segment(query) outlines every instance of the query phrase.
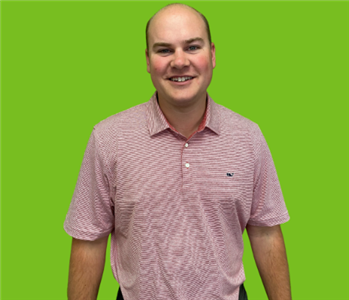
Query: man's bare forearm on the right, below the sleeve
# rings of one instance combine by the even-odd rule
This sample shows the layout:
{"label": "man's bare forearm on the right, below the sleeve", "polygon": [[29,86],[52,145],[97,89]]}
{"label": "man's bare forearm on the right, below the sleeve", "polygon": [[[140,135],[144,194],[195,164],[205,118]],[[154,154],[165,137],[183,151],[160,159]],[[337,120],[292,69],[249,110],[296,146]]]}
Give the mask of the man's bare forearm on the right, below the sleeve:
{"label": "man's bare forearm on the right, below the sleeve", "polygon": [[247,225],[246,230],[269,300],[291,300],[290,275],[280,225]]}

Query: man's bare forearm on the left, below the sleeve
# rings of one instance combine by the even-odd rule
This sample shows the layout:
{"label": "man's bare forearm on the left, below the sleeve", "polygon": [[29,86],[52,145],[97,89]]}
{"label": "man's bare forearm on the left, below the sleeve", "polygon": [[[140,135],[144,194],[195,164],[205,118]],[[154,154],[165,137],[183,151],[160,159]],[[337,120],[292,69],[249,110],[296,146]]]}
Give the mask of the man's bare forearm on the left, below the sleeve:
{"label": "man's bare forearm on the left, below the sleeve", "polygon": [[69,280],[69,300],[96,300],[102,279],[108,236],[95,241],[73,238]]}

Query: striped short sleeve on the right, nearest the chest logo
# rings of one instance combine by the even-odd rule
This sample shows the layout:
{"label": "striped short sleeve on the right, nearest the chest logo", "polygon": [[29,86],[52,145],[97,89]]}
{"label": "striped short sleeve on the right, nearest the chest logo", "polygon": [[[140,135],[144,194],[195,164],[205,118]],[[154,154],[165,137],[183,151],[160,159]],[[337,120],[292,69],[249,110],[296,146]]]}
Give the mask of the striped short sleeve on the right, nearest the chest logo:
{"label": "striped short sleeve on the right, nearest the chest logo", "polygon": [[290,217],[269,147],[261,130],[258,126],[256,127],[252,132],[255,171],[251,216],[248,224],[270,227],[285,223]]}

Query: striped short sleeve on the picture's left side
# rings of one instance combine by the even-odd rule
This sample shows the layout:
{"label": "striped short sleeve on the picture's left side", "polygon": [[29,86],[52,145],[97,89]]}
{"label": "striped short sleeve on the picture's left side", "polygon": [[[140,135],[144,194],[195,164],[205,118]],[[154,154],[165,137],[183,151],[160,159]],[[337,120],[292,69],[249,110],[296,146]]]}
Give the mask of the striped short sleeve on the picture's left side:
{"label": "striped short sleeve on the picture's left side", "polygon": [[90,136],[64,230],[76,239],[96,240],[109,235],[114,227],[110,178],[101,153],[102,143],[94,130]]}

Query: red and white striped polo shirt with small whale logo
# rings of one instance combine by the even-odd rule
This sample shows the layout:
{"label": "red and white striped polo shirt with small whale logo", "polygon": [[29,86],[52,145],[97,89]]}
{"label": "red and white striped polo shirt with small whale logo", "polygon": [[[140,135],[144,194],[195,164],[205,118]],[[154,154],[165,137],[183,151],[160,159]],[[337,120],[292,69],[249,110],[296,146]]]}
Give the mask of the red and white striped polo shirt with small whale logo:
{"label": "red and white striped polo shirt with small whale logo", "polygon": [[289,220],[258,125],[209,95],[202,125],[176,132],[155,93],[94,127],[64,229],[111,233],[125,300],[237,300],[246,225]]}

